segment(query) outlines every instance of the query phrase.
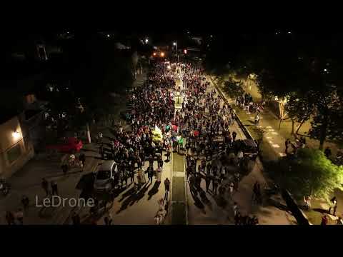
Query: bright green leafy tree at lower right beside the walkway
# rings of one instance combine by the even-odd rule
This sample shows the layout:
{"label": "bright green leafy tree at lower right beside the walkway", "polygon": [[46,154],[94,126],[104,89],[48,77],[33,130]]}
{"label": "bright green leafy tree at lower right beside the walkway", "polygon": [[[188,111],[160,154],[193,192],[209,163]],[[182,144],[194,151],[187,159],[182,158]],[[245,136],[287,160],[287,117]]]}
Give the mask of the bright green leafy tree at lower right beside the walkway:
{"label": "bright green leafy tree at lower right beside the walkway", "polygon": [[279,177],[283,188],[299,199],[304,196],[328,199],[343,183],[343,167],[334,165],[322,151],[313,148],[299,149],[297,158],[269,163],[269,171]]}

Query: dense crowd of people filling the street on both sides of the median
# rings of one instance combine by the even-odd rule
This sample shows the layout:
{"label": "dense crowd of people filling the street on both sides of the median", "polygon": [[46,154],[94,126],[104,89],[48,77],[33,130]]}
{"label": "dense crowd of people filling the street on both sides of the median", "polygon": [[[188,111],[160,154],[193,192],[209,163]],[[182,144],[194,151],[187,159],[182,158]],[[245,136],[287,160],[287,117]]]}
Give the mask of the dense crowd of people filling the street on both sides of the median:
{"label": "dense crowd of people filling the street on both sides of the median", "polygon": [[[214,195],[229,192],[232,196],[237,191],[239,173],[232,181],[224,183],[229,165],[243,166],[244,163],[244,153],[236,143],[237,132],[230,127],[236,114],[217,91],[208,87],[200,66],[180,64],[171,69],[164,63],[153,64],[144,85],[129,93],[126,121],[131,129],[119,126],[113,131],[107,155],[117,163],[116,186],[129,186],[130,180],[139,191],[146,183],[145,173],[149,181],[155,177],[160,183],[164,161],[169,161],[174,151],[187,156],[187,178],[192,191],[197,191],[195,188],[199,188],[202,179],[206,182],[206,191]],[[181,109],[175,109],[176,96],[182,96]],[[104,158],[107,150],[104,143],[99,143],[99,153]],[[226,156],[231,156],[229,161]],[[197,166],[198,160],[201,161]],[[149,166],[143,171],[146,161]],[[157,167],[154,167],[155,161]],[[169,188],[170,181],[164,183]],[[167,189],[161,201],[168,202]],[[161,213],[166,213],[166,204],[160,205],[156,223],[162,223]]]}

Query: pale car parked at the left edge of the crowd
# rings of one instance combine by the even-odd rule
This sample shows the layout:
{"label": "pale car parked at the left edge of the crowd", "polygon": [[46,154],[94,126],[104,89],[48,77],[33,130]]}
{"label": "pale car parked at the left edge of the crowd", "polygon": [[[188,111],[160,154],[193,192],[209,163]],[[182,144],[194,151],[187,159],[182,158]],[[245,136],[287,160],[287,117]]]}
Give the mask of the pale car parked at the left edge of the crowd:
{"label": "pale car parked at the left edge of the crowd", "polygon": [[96,172],[94,180],[94,190],[111,191],[114,187],[114,178],[118,173],[118,167],[115,161],[105,161]]}

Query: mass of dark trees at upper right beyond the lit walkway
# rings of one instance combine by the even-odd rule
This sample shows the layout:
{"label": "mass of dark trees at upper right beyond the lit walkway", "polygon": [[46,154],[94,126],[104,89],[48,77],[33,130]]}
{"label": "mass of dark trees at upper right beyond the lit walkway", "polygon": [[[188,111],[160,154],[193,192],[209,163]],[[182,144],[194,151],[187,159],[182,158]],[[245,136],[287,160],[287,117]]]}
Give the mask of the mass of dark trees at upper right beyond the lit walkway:
{"label": "mass of dark trees at upper right beyond the lit walkway", "polygon": [[311,118],[309,135],[319,139],[321,149],[327,139],[342,140],[341,35],[277,31],[216,39],[205,60],[207,71],[257,74],[262,97],[277,96],[292,124],[299,124],[292,133]]}

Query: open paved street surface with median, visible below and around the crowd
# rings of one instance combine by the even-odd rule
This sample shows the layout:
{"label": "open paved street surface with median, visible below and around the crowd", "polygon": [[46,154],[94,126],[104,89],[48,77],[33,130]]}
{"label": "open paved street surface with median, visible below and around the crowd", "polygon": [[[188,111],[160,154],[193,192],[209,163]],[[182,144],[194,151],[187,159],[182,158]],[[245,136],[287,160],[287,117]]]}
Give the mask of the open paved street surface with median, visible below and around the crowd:
{"label": "open paved street surface with median, visible below and around the crowd", "polygon": [[[140,78],[140,79],[139,79]],[[139,76],[136,86],[144,83],[146,76]],[[207,88],[207,93],[214,89],[213,84]],[[181,107],[178,105],[177,107]],[[129,126],[125,127],[130,130]],[[104,143],[110,143],[113,134],[110,129],[102,129]],[[244,138],[244,133],[237,123],[230,126],[230,131],[237,132],[237,139]],[[94,136],[94,135],[93,135]],[[102,163],[99,157],[99,145],[97,143],[86,144],[82,150],[86,153],[86,166],[84,172],[79,168],[73,168],[64,176],[61,172],[61,158],[66,156],[58,155],[47,159],[46,156],[36,156],[36,159],[16,173],[9,182],[13,188],[6,198],[0,199],[1,223],[4,221],[4,212],[16,211],[21,206],[21,196],[29,196],[31,200],[29,208],[24,212],[25,224],[70,224],[71,212],[76,211],[81,216],[82,223],[89,223],[89,208],[36,208],[34,199],[44,197],[41,188],[41,178],[45,177],[48,181],[56,181],[59,185],[59,193],[62,197],[78,198],[81,195],[90,195],[93,183],[92,172],[96,171],[97,166]],[[159,210],[158,201],[164,198],[164,179],[168,177],[171,182],[171,192],[169,194],[169,213],[164,224],[233,224],[232,204],[237,201],[242,213],[255,214],[261,224],[291,224],[294,223],[292,216],[286,211],[264,203],[261,206],[252,206],[252,185],[255,181],[265,184],[261,166],[254,164],[251,172],[244,176],[239,183],[239,191],[232,198],[225,198],[225,203],[218,196],[213,196],[212,191],[205,193],[204,196],[194,195],[189,188],[189,181],[185,178],[185,159],[178,153],[173,153],[171,161],[166,162],[165,152],[163,153],[164,166],[161,173],[161,182],[156,183],[156,178],[152,182],[145,183],[138,193],[133,192],[133,183],[127,187],[116,189],[114,201],[107,205],[106,211],[102,210],[102,215],[98,217],[99,225],[104,224],[104,216],[111,215],[114,225],[153,225],[154,216]],[[197,161],[199,165],[200,161]],[[143,170],[149,166],[146,161]],[[157,163],[154,161],[154,169]],[[232,175],[237,172],[236,166],[231,166],[224,183],[229,183]],[[34,174],[34,176],[32,176]],[[137,175],[136,175],[137,176]],[[148,181],[147,174],[146,181]],[[135,177],[136,181],[136,177]],[[201,183],[204,190],[204,179]],[[279,199],[280,201],[280,199]]]}

